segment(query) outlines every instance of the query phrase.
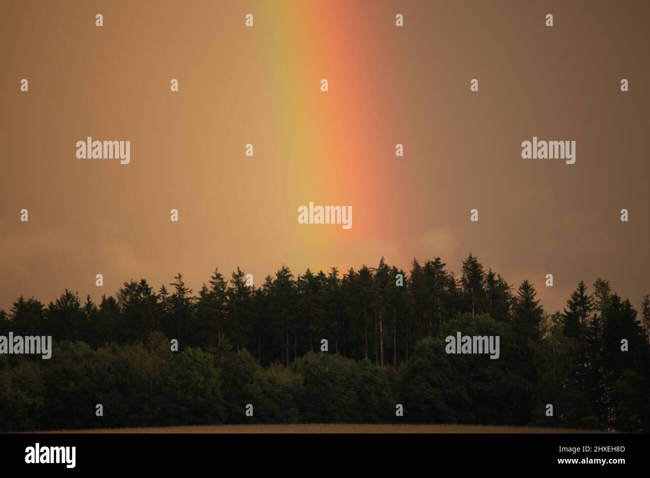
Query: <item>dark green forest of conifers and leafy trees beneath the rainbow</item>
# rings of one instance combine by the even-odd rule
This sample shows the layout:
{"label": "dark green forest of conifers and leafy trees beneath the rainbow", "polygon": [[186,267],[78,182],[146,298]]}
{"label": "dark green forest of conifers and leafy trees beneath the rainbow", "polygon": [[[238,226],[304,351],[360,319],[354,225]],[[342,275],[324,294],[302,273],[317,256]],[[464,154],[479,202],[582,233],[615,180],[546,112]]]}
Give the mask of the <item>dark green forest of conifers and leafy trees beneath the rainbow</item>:
{"label": "dark green forest of conifers and leafy trees beneath the rainbow", "polygon": [[[472,255],[460,278],[440,258],[414,260],[408,274],[382,258],[343,276],[294,277],[283,266],[259,287],[239,269],[230,280],[215,270],[198,296],[181,274],[169,285],[156,292],[131,280],[99,304],[67,290],[47,307],[20,297],[0,311],[0,335],[55,344],[50,360],[0,355],[0,429],[406,421],[650,430],[650,298],[638,313],[601,279],[593,293],[580,282],[551,314],[528,281],[513,290]],[[500,336],[500,358],[447,354],[456,332]]]}

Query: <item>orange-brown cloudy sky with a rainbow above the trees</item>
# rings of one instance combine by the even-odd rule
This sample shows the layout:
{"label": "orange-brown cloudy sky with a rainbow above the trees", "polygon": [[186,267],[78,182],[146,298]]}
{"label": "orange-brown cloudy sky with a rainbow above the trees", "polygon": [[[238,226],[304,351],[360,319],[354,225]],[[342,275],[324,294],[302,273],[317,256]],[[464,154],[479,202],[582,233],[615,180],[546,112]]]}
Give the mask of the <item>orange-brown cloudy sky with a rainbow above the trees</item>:
{"label": "orange-brown cloudy sky with a rainbow above the trees", "polygon": [[[598,277],[637,306],[650,293],[649,14],[602,1],[2,3],[0,308],[66,288],[98,301],[129,279],[158,289],[178,272],[196,293],[215,267],[259,285],[283,264],[383,256],[408,271],[439,256],[459,275],[470,253],[515,287],[528,279],[549,312]],[[130,163],[77,158],[87,137],[129,140]],[[575,141],[575,164],[523,159],[533,137]],[[309,202],[352,206],[352,228],[299,224]]]}

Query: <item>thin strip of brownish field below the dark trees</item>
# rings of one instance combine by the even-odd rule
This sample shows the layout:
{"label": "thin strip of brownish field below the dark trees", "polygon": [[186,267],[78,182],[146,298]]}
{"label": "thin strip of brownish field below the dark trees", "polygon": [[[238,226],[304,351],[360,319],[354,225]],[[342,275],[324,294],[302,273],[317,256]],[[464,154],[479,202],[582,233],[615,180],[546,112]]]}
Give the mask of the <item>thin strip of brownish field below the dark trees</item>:
{"label": "thin strip of brownish field below the dark trees", "polygon": [[309,423],[304,425],[205,425],[193,427],[63,430],[52,433],[591,433],[534,427],[485,425],[359,425]]}

